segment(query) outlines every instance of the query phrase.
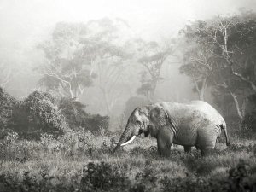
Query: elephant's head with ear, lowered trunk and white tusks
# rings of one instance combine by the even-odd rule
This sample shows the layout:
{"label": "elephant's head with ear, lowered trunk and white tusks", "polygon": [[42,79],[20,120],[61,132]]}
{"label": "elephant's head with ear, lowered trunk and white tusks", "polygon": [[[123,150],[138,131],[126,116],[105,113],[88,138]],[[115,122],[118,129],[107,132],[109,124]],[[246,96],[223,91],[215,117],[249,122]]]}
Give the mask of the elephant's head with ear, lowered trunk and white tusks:
{"label": "elephant's head with ear, lowered trunk and white tusks", "polygon": [[163,108],[153,105],[136,108],[128,119],[125,131],[121,135],[119,142],[113,152],[120,146],[131,143],[135,137],[144,133],[148,137],[149,133],[152,137],[156,137],[161,125],[166,124],[167,114]]}

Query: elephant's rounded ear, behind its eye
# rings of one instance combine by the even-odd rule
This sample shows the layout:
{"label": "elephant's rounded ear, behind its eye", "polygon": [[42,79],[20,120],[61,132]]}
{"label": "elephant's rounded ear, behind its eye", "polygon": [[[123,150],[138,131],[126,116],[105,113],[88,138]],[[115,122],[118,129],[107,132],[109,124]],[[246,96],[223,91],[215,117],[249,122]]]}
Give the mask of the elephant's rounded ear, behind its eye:
{"label": "elephant's rounded ear, behind its eye", "polygon": [[156,126],[163,126],[167,123],[166,112],[163,108],[160,107],[152,108],[148,118]]}

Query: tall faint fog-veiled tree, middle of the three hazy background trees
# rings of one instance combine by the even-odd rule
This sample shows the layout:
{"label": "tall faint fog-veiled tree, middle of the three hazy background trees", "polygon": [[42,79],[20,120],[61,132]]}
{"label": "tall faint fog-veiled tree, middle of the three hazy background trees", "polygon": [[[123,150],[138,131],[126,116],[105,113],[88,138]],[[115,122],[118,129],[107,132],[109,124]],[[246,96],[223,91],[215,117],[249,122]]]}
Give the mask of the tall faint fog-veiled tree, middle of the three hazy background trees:
{"label": "tall faint fog-veiled tree, middle of the three hazy background trees", "polygon": [[[88,28],[92,36],[90,44],[84,39],[84,52],[90,53],[91,71],[96,73],[96,87],[102,92],[102,101],[106,112],[110,114],[121,98],[124,89],[117,89],[125,77],[127,59],[130,55],[125,49],[126,39],[123,31],[129,30],[125,20],[91,20]],[[95,32],[96,31],[96,32]],[[91,44],[91,42],[94,42]],[[90,46],[88,46],[90,45]]]}

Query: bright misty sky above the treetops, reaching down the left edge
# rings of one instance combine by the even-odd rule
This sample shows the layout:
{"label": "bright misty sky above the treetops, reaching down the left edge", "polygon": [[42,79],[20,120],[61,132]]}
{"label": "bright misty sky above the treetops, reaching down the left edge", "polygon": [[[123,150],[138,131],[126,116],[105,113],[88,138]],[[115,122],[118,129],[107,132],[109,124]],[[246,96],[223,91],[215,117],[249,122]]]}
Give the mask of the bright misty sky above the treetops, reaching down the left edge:
{"label": "bright misty sky above the treetops, reaching down the left edge", "polygon": [[25,96],[35,87],[38,77],[31,69],[42,61],[36,45],[59,21],[121,18],[138,37],[159,40],[175,36],[189,20],[234,15],[241,8],[256,10],[256,0],[0,0],[0,59],[22,71],[9,91]]}

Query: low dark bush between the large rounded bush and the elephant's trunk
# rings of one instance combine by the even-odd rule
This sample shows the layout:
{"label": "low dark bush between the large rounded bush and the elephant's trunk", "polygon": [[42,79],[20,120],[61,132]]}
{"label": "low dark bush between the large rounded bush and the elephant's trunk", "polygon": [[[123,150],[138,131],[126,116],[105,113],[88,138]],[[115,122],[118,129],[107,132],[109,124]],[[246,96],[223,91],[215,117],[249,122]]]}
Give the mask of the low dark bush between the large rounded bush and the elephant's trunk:
{"label": "low dark bush between the large rounded bush and the elephant's trunk", "polygon": [[85,112],[86,106],[70,98],[61,98],[59,109],[67,119],[71,129],[79,131],[81,127],[93,133],[108,129],[108,116]]}

